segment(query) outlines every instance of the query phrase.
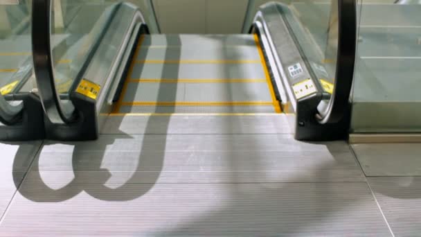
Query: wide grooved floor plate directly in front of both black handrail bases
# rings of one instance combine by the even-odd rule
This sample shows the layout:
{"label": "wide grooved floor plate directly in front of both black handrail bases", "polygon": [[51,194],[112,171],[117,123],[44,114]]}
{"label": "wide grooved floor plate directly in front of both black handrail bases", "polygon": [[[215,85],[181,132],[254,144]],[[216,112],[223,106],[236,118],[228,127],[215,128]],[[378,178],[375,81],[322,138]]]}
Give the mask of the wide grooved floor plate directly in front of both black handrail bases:
{"label": "wide grooved floor plate directly in front of both black handrail bases", "polygon": [[366,180],[346,142],[303,143],[291,134],[122,134],[46,142],[31,171],[28,180],[40,181],[41,173],[55,184],[66,184],[73,172],[77,182],[107,184]]}

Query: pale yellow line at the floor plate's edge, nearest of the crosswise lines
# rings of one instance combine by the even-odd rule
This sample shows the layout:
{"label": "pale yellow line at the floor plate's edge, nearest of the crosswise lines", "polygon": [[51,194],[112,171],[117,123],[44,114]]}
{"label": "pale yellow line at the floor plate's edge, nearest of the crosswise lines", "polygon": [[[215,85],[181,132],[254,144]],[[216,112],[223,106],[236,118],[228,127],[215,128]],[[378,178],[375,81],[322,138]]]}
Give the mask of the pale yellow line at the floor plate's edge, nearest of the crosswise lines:
{"label": "pale yellow line at the floor plate's edge, nearest of the crosswise lines", "polygon": [[111,114],[100,114],[100,116],[280,116],[280,114],[274,114],[274,113],[262,113],[262,114],[256,114],[256,113],[204,113],[204,114],[188,114],[188,113],[111,113]]}

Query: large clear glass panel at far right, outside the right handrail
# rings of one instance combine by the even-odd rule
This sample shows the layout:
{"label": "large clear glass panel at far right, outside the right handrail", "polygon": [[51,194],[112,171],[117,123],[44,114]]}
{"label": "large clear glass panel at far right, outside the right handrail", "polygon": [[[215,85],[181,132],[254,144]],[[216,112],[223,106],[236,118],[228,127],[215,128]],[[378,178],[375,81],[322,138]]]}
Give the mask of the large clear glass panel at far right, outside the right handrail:
{"label": "large clear glass panel at far right, outside the right handrail", "polygon": [[359,2],[353,132],[421,132],[420,3]]}

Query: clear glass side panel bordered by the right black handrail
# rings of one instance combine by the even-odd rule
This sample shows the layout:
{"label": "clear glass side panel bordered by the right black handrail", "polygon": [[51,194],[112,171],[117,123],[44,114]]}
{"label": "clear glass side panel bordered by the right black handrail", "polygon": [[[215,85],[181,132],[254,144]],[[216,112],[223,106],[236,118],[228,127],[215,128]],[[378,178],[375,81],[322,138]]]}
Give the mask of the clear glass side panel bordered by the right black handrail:
{"label": "clear glass side panel bordered by the right black handrail", "polygon": [[[244,30],[251,24],[259,6],[270,1],[253,1],[246,16]],[[303,49],[303,56],[319,79],[328,101],[334,90],[337,65],[338,6],[337,1],[277,1],[283,4],[283,17],[294,31]]]}

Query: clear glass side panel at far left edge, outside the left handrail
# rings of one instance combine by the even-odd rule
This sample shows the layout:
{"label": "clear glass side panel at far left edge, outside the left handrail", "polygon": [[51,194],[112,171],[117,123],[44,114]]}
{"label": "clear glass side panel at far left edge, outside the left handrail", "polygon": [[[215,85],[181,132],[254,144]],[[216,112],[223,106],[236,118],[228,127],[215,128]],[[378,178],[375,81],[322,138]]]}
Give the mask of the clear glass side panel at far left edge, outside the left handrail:
{"label": "clear glass side panel at far left edge, outside the left handrail", "polygon": [[31,6],[32,1],[0,1],[0,94],[6,97],[35,85],[29,81],[33,75]]}

